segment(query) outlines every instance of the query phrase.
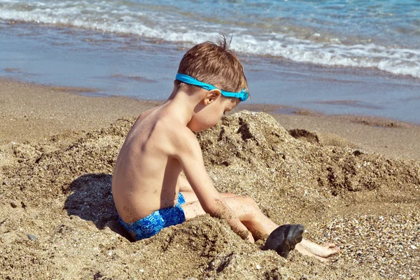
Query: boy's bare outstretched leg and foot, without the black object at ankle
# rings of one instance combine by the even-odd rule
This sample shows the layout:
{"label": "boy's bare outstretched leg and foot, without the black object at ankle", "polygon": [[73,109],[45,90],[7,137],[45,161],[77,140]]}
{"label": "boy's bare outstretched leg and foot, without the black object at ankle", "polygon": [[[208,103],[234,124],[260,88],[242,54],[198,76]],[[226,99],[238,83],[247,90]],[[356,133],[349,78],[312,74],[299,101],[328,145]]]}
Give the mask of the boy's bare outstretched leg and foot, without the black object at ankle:
{"label": "boy's bare outstretched leg and foot, without the black object at ankle", "polygon": [[[186,204],[181,205],[186,219],[206,214],[194,193],[183,192],[182,194],[186,198]],[[276,225],[276,223],[272,222],[261,212],[251,197],[237,196],[232,193],[221,193],[221,195],[226,204],[237,215],[239,221],[244,223],[254,237],[262,238],[268,236],[273,230],[279,227],[279,225]],[[296,249],[303,255],[313,256],[323,261],[327,260],[325,257],[338,252],[335,244],[318,245],[307,239],[302,239],[300,244],[296,245]]]}

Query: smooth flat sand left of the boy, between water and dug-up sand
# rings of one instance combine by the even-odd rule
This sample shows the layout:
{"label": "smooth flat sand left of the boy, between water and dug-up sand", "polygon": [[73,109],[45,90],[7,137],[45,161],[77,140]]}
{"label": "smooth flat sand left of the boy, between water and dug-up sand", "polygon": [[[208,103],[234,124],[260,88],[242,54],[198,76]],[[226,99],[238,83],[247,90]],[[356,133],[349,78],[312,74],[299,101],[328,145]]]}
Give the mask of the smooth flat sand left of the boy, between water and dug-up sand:
{"label": "smooth flat sand left of the boy, between water and dug-up sand", "polygon": [[0,144],[44,141],[54,134],[99,129],[157,104],[78,94],[94,92],[89,88],[48,87],[1,78],[0,85]]}

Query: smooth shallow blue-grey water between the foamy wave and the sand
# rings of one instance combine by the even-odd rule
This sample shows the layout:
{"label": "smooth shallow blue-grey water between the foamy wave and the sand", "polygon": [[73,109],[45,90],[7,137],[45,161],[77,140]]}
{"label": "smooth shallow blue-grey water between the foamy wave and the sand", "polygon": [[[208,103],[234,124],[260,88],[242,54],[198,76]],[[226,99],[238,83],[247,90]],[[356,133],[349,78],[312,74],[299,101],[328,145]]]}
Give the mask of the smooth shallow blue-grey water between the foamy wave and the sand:
{"label": "smooth shallow blue-grey water between the foamy wave and the sand", "polygon": [[[90,93],[94,95],[166,99],[186,50],[186,45],[133,36],[24,27],[0,25],[5,31],[0,40],[0,76],[41,85],[95,88]],[[251,86],[252,103],[283,104],[330,115],[386,116],[420,124],[416,79],[374,69],[238,55]]]}

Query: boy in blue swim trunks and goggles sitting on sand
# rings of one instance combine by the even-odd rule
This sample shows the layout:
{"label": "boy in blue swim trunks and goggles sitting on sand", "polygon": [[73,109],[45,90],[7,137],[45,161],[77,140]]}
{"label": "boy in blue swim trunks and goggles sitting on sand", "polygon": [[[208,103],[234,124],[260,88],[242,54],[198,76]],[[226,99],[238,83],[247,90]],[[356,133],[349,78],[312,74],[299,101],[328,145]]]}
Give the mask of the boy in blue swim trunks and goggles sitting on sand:
{"label": "boy in blue swim trunks and goggles sitting on sand", "polygon": [[[186,52],[171,96],[137,118],[116,161],[113,199],[121,224],[134,239],[206,213],[225,219],[250,242],[278,228],[251,197],[218,193],[193,133],[213,127],[247,98],[243,66],[225,38]],[[337,252],[334,244],[306,239],[295,248],[320,260]]]}

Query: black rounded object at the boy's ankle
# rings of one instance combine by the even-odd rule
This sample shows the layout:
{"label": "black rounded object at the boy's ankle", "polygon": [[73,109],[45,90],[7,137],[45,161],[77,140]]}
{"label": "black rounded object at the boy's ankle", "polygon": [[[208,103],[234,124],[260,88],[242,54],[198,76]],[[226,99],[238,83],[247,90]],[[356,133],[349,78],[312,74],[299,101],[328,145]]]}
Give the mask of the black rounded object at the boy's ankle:
{"label": "black rounded object at the boy's ankle", "polygon": [[283,258],[302,241],[303,225],[281,225],[265,241],[263,250],[274,250]]}

